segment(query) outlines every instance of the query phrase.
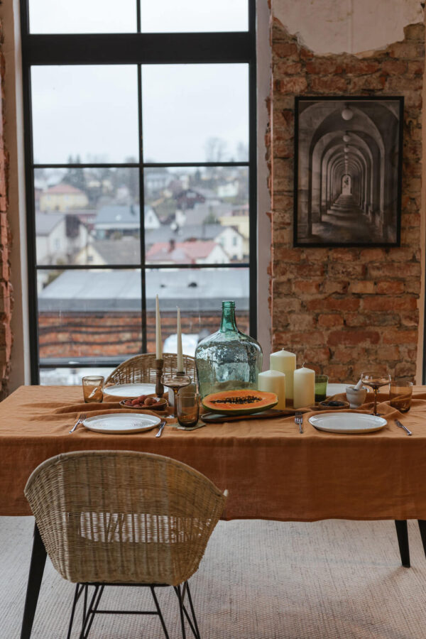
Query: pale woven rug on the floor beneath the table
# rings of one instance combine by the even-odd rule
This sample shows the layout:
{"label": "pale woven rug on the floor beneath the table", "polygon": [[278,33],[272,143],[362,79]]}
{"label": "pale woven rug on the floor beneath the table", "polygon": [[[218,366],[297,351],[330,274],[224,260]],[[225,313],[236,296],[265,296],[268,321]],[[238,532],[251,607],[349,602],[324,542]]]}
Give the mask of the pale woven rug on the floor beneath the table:
{"label": "pale woven rug on the floor beneath the table", "polygon": [[[30,517],[0,518],[1,639],[20,634],[32,532]],[[417,523],[409,532],[406,569],[391,521],[220,522],[190,581],[202,638],[424,639],[426,559]],[[73,593],[48,561],[32,638],[66,636]],[[180,637],[175,594],[158,589],[158,599],[170,639]],[[124,587],[107,589],[102,604],[152,606],[149,591]],[[89,636],[163,635],[158,618],[106,615],[95,618]]]}

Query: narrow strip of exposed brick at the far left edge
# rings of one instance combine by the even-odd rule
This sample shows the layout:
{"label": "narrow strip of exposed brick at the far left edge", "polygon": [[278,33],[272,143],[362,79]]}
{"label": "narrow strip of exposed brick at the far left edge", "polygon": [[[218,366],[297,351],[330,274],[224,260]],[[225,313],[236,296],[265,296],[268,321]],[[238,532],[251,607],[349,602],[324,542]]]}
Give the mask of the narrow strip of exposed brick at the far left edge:
{"label": "narrow strip of exposed brick at the far left edge", "polygon": [[7,394],[12,348],[11,234],[7,219],[8,156],[4,147],[4,56],[1,51],[2,43],[0,24],[0,400]]}

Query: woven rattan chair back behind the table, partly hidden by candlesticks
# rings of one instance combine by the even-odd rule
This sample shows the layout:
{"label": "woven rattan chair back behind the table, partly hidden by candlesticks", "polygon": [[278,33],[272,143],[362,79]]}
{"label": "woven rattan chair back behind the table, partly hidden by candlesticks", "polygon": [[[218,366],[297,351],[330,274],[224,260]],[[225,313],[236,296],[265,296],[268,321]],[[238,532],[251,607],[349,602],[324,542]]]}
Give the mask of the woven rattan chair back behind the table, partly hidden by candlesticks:
{"label": "woven rattan chair back behind the table, partly hidden by candlesticks", "polygon": [[[176,370],[177,355],[174,353],[163,354],[163,372],[171,373]],[[190,355],[183,356],[183,368],[192,381],[197,383],[197,368],[195,359]],[[156,368],[155,353],[136,355],[126,359],[107,378],[106,384],[152,383],[155,384]]]}

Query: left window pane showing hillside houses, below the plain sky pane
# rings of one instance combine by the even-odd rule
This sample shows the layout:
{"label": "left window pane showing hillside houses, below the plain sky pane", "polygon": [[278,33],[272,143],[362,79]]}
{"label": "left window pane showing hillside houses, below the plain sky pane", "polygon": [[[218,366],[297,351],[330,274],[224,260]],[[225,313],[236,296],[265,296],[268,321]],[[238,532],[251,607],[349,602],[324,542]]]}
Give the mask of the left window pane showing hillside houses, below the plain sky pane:
{"label": "left window pane showing hillside houses, below the plain sky pane", "polygon": [[34,186],[38,264],[140,263],[137,168],[38,168]]}

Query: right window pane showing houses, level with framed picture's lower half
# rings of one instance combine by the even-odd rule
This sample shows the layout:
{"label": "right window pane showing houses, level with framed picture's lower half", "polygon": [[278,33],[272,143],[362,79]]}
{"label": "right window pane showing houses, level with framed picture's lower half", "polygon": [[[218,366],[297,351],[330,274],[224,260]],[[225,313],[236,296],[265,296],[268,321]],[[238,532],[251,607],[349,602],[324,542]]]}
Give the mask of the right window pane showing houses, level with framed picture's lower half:
{"label": "right window pane showing houses, level with framed picture's lower half", "polygon": [[147,168],[144,180],[147,264],[249,260],[246,167]]}

